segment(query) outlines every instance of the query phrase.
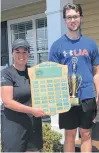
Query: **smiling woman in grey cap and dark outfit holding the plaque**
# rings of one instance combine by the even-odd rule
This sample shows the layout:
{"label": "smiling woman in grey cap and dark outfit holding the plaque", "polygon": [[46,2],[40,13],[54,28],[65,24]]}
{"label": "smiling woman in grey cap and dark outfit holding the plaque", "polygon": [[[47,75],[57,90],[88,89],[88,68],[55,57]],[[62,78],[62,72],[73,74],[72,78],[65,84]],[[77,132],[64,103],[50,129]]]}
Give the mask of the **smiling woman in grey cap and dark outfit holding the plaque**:
{"label": "smiling woman in grey cap and dark outfit holding the plaque", "polygon": [[38,152],[42,148],[41,109],[31,107],[27,61],[30,46],[17,39],[12,44],[14,64],[1,73],[1,141],[4,152]]}

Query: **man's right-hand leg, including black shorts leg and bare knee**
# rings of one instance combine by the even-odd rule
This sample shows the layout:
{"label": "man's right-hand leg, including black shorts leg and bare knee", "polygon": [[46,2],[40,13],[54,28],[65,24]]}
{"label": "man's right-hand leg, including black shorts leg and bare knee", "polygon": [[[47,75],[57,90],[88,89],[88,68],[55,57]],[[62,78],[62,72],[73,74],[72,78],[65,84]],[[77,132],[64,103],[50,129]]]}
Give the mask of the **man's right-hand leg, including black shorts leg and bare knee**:
{"label": "man's right-hand leg, including black shorts leg and bare knee", "polygon": [[83,101],[82,106],[83,107],[81,108],[80,120],[79,120],[80,135],[81,135],[81,151],[91,152],[92,151],[91,127],[93,124],[93,119],[96,116],[96,101],[94,98],[87,99]]}

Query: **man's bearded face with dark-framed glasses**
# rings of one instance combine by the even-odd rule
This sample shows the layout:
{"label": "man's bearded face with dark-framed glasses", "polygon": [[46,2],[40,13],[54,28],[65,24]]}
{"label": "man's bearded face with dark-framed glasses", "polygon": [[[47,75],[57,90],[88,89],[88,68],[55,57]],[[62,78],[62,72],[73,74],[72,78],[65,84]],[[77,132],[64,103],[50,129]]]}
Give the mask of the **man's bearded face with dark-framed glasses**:
{"label": "man's bearded face with dark-framed glasses", "polygon": [[66,24],[70,31],[77,31],[80,28],[82,18],[79,12],[73,9],[66,10]]}

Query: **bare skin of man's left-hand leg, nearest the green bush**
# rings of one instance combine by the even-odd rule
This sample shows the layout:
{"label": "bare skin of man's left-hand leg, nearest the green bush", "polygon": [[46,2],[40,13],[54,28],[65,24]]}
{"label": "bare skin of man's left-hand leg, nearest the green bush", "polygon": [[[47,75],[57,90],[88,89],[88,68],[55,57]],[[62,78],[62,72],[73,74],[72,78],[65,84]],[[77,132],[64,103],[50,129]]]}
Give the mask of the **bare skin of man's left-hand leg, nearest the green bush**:
{"label": "bare skin of man's left-hand leg, nearest the green bush", "polygon": [[75,152],[75,137],[77,129],[65,130],[64,152]]}

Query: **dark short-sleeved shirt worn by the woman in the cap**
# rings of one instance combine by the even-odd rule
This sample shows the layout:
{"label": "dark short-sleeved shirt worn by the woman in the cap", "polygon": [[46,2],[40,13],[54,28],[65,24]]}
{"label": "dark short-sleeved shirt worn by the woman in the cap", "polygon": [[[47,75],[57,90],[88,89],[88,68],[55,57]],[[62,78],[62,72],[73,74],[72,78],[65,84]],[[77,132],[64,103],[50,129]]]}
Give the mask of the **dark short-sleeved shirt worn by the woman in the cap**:
{"label": "dark short-sleeved shirt worn by the woman in the cap", "polygon": [[10,66],[1,72],[1,86],[13,86],[13,99],[31,106],[30,81],[27,72]]}

